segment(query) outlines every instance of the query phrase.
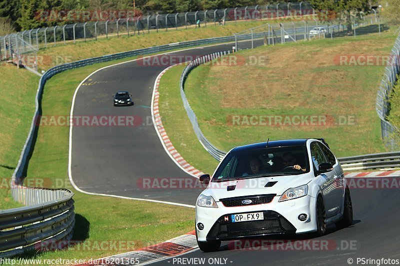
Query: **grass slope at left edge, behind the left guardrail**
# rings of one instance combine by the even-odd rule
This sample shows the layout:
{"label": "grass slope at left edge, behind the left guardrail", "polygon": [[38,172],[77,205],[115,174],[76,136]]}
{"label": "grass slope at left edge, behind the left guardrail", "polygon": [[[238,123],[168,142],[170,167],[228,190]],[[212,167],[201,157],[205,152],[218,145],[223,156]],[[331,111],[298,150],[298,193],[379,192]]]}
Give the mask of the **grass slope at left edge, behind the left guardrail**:
{"label": "grass slope at left edge, behind the left guardrail", "polygon": [[9,190],[34,113],[39,77],[15,66],[0,65],[0,209],[20,207]]}

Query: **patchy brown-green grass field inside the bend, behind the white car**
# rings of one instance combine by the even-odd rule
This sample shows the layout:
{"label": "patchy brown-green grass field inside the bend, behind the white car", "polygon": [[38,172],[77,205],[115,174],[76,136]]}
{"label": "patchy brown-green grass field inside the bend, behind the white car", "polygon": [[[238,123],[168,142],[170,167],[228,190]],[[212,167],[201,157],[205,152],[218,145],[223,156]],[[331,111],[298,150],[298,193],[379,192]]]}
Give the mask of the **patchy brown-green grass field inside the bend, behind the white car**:
{"label": "patchy brown-green grass field inside the bend, behind the white car", "polygon": [[[385,32],[241,51],[237,61],[244,57],[248,63],[249,56],[261,55],[266,64],[201,65],[186,80],[186,96],[204,135],[225,151],[268,137],[324,137],[339,157],[381,152],[375,97],[384,66],[338,65],[337,56],[387,55],[394,39],[393,33]],[[210,173],[216,162],[199,146],[181,107],[176,81],[181,68],[174,67],[161,79],[162,122],[177,151],[194,167]],[[169,81],[173,79],[175,83]],[[251,126],[232,125],[232,115],[326,115],[327,120],[318,126]],[[335,124],[344,118],[352,120]]]}

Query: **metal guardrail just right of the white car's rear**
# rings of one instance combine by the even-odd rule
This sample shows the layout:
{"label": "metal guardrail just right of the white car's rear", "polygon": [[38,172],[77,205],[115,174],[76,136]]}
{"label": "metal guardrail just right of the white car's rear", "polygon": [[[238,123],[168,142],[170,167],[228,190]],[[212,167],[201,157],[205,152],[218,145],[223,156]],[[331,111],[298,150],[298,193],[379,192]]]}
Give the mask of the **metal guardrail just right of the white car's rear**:
{"label": "metal guardrail just right of the white car's rear", "polygon": [[400,151],[338,158],[343,170],[400,168]]}

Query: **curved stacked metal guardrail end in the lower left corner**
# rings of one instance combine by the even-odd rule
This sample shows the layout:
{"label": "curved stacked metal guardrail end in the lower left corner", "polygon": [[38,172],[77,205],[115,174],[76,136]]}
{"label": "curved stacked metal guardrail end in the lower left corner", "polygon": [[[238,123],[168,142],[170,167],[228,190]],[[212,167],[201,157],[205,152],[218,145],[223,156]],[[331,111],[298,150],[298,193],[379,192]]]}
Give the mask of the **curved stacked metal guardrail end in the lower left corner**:
{"label": "curved stacked metal guardrail end in the lower left corner", "polygon": [[0,210],[0,258],[39,251],[43,243],[71,239],[75,224],[71,191],[20,185],[12,185],[11,190],[17,202],[28,206]]}

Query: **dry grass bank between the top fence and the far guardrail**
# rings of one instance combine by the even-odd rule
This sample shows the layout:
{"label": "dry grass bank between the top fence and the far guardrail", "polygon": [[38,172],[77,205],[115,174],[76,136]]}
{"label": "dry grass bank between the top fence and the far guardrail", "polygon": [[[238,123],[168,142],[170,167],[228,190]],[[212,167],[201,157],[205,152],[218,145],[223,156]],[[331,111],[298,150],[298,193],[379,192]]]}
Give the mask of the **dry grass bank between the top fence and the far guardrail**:
{"label": "dry grass bank between the top fence and the far guardrail", "polygon": [[[279,22],[278,20],[269,21],[270,23]],[[112,54],[117,52],[129,51],[134,49],[146,48],[162,44],[196,40],[203,38],[221,37],[233,35],[251,27],[267,23],[264,21],[243,21],[228,23],[224,26],[207,25],[207,27],[188,28],[188,29],[169,29],[168,31],[151,32],[135,36],[120,36],[119,38],[88,40],[86,42],[66,43],[65,45],[48,46],[40,49],[37,55],[42,56],[42,64],[38,62],[39,69],[48,69],[56,62],[58,64],[80,59]]]}

